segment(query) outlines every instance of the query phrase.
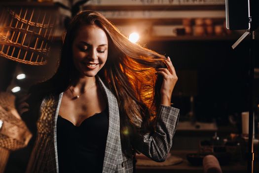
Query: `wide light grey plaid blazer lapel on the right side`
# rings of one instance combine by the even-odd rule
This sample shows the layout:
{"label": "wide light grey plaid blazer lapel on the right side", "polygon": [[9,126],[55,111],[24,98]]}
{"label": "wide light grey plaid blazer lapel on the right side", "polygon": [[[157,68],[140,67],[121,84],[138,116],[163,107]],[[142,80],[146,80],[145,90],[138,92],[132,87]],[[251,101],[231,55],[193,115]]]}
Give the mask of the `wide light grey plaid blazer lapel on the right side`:
{"label": "wide light grey plaid blazer lapel on the right side", "polygon": [[110,89],[105,86],[99,76],[97,79],[100,83],[103,94],[106,96],[109,106],[109,130],[107,135],[107,143],[105,148],[105,157],[103,165],[103,173],[115,172],[118,160],[122,160],[120,156],[120,127],[119,127],[119,108],[116,97]]}

